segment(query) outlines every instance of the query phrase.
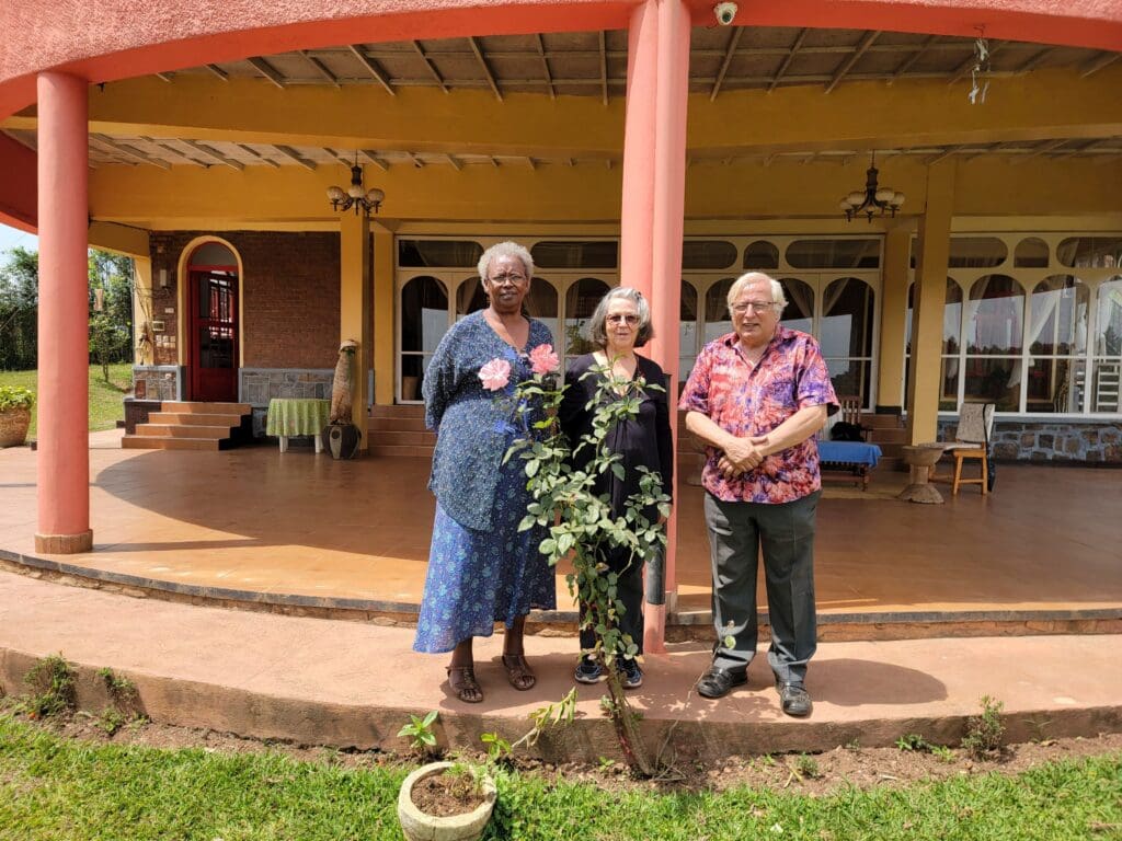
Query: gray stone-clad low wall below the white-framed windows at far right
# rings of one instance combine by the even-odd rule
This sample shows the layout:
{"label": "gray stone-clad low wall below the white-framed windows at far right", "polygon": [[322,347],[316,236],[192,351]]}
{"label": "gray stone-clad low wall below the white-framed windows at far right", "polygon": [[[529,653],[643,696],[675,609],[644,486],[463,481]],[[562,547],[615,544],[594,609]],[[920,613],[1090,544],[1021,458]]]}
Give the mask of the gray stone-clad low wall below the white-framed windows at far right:
{"label": "gray stone-clad low wall below the white-framed windows at far right", "polygon": [[[940,440],[954,436],[955,420],[940,419]],[[1001,461],[1122,466],[1122,422],[996,420],[993,454]]]}

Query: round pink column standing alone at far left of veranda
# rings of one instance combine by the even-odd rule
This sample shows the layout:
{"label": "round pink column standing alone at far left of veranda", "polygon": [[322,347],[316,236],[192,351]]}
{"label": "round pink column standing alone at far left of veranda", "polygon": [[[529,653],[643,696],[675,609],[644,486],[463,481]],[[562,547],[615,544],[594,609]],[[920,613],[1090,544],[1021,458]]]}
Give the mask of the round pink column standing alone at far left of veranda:
{"label": "round pink column standing alone at far left of veranda", "polygon": [[89,552],[88,84],[38,77],[39,394],[35,548]]}

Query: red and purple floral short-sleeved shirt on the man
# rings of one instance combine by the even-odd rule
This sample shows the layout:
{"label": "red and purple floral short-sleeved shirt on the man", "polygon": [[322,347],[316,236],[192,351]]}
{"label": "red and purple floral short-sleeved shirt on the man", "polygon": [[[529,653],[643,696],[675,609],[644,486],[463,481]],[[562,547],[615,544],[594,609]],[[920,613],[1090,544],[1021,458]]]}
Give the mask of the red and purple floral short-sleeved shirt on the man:
{"label": "red and purple floral short-sleeved shirt on the man", "polygon": [[[733,435],[766,435],[807,406],[837,405],[818,342],[798,330],[775,326],[775,335],[752,368],[736,333],[709,342],[698,357],[678,406],[700,412]],[[754,470],[725,479],[721,452],[706,447],[701,483],[726,502],[793,502],[819,490],[813,436],[766,456]]]}

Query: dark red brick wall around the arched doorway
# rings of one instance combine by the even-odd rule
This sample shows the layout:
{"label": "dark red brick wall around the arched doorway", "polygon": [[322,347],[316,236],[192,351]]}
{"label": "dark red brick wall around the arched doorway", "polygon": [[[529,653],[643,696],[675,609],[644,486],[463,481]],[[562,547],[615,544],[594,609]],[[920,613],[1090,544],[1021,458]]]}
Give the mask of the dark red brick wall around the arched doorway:
{"label": "dark red brick wall around the arched doorway", "polygon": [[[153,277],[167,269],[153,317],[174,335],[176,269],[183,249],[202,231],[154,232]],[[339,234],[223,231],[241,257],[241,341],[247,368],[333,368],[339,357]],[[156,364],[175,364],[174,346],[156,346]]]}

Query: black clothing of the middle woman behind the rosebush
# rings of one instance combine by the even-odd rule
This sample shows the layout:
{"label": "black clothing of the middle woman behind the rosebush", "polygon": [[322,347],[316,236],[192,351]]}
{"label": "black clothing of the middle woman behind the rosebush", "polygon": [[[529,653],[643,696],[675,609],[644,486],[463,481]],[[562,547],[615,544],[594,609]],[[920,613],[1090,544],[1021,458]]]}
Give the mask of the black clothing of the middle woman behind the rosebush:
{"label": "black clothing of the middle woman behind the rosebush", "polygon": [[[657,362],[635,357],[635,377],[642,377],[645,382],[668,388],[666,376]],[[561,401],[559,419],[561,429],[576,449],[581,436],[592,432],[595,406],[586,408],[596,395],[604,375],[592,373],[585,377],[589,369],[598,364],[591,353],[578,357],[569,363],[565,372],[564,397]],[[581,379],[583,377],[583,379]],[[610,395],[610,391],[608,392]],[[609,399],[609,398],[608,398]],[[620,420],[608,431],[606,438],[608,450],[623,456],[624,479],[617,479],[611,471],[601,474],[596,482],[595,491],[606,493],[611,501],[613,516],[622,516],[626,500],[638,491],[641,473],[635,469],[643,465],[659,471],[662,477],[663,492],[671,496],[674,477],[674,446],[670,434],[670,403],[665,390],[643,389],[638,415],[627,420]],[[585,447],[578,453],[573,466],[583,468],[592,459],[591,447]],[[657,517],[657,511],[645,512],[650,519]],[[643,650],[643,564],[629,563],[631,558],[624,551],[609,553],[606,558],[608,566],[619,573],[617,594],[624,603],[624,616],[619,619],[619,629],[631,635],[632,640]],[[581,604],[583,614],[586,606]],[[595,634],[585,629],[580,634],[582,649],[590,649],[596,644]]]}

